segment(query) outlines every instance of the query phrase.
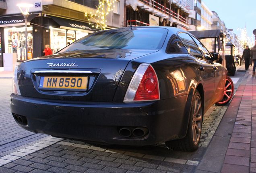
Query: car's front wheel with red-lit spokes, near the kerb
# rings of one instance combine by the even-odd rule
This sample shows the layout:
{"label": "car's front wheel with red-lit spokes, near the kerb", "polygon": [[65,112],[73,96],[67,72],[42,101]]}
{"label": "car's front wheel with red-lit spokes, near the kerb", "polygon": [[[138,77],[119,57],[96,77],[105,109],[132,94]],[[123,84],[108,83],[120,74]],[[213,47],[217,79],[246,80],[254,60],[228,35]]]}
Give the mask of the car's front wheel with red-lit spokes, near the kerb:
{"label": "car's front wheel with red-lit spokes, near the kerb", "polygon": [[226,82],[225,82],[223,99],[222,99],[222,101],[215,103],[215,105],[218,105],[218,106],[226,105],[232,99],[233,93],[234,93],[233,81],[229,76],[227,76]]}

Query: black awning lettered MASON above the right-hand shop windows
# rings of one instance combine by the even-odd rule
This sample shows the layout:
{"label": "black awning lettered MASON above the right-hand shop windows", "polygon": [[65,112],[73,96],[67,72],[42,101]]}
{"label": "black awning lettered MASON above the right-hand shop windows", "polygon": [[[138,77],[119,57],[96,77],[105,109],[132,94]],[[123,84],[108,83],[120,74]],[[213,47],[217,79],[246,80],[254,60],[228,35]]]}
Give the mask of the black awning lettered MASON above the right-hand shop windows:
{"label": "black awning lettered MASON above the right-hand shop windows", "polygon": [[51,16],[51,18],[60,25],[60,28],[68,29],[68,30],[80,30],[80,31],[89,32],[89,33],[93,32],[91,31],[91,27],[89,23],[70,20],[66,18],[58,18],[54,16]]}

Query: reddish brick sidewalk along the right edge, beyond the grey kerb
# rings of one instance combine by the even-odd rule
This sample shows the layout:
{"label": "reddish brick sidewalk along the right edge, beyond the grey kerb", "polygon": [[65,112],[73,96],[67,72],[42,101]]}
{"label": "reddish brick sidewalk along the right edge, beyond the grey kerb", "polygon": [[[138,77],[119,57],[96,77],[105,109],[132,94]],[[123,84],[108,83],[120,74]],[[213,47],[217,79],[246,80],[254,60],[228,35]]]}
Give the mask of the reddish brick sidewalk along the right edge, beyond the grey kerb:
{"label": "reddish brick sidewalk along the right edge, beyond the grey kerb", "polygon": [[[246,72],[224,117],[235,125],[221,173],[256,173],[256,78]],[[232,109],[231,109],[232,108]]]}

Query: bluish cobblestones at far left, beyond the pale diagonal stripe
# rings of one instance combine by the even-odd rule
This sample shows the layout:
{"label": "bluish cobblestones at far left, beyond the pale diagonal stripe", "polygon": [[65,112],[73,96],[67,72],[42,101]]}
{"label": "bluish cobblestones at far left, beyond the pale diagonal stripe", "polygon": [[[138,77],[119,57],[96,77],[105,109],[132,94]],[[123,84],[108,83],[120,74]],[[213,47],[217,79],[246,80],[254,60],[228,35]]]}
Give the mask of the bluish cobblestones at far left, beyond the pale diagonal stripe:
{"label": "bluish cobblestones at far left, beyond the pale diagonal stripe", "polygon": [[0,78],[0,157],[25,148],[47,135],[35,134],[22,129],[10,113],[10,93],[12,80]]}

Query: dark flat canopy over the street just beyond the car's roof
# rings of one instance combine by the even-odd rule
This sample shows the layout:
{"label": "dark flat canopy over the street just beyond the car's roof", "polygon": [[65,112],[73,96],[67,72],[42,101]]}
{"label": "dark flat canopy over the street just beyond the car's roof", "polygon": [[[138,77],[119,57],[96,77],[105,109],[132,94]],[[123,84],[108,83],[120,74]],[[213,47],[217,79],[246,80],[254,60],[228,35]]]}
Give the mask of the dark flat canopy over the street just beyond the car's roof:
{"label": "dark flat canopy over the street just beyond the car's roof", "polygon": [[221,30],[201,30],[201,31],[189,31],[198,39],[202,38],[219,38],[219,36],[224,36]]}

